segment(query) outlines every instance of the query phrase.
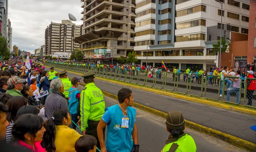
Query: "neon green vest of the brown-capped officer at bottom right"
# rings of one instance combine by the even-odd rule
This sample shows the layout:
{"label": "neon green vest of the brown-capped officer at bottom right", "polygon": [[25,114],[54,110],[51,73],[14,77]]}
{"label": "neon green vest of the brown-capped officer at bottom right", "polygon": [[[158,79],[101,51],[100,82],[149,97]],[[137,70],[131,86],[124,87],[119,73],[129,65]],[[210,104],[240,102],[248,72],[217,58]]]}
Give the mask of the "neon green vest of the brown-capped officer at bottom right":
{"label": "neon green vest of the brown-capped officer at bottom right", "polygon": [[163,152],[196,152],[194,139],[183,133],[178,138],[169,138],[166,140],[166,145],[163,147]]}

